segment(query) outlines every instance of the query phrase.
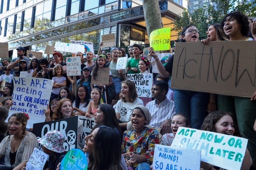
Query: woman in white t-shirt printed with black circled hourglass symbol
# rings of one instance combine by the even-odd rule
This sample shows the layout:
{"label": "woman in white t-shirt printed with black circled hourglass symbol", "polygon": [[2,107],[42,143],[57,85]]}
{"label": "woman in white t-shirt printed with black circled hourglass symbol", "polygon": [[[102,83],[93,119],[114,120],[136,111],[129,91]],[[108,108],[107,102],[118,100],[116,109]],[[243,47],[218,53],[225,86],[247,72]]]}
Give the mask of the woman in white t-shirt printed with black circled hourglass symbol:
{"label": "woman in white t-shirt printed with black circled hourglass symbol", "polygon": [[137,105],[143,105],[138,98],[136,87],[133,81],[125,80],[121,83],[122,99],[116,104],[116,117],[120,120],[120,128],[126,129],[127,123],[131,120],[132,109]]}

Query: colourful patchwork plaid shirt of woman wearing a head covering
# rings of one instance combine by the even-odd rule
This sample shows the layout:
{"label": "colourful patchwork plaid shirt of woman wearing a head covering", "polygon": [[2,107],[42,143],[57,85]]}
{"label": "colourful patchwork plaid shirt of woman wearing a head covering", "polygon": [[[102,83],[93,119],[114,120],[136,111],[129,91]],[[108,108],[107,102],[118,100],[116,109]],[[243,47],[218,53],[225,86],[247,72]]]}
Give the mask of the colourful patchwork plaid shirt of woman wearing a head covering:
{"label": "colourful patchwork plaid shirt of woman wearing a head covering", "polygon": [[[144,155],[146,163],[153,163],[155,144],[159,144],[159,136],[156,129],[144,127],[144,130],[140,136],[135,136],[135,130],[126,130],[123,136],[122,151],[123,154],[127,152],[133,152],[134,154]],[[135,162],[136,168],[140,163]]]}

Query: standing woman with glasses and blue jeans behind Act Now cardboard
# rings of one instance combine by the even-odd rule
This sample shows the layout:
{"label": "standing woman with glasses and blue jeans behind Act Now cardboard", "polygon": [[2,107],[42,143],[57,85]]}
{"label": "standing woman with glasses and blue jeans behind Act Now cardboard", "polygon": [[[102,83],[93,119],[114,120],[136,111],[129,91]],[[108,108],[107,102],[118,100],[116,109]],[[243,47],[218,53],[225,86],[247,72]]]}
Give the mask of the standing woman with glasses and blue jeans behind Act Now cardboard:
{"label": "standing woman with glasses and blue jeans behind Act Now cardboard", "polygon": [[[199,31],[194,26],[186,26],[183,28],[181,35],[182,37],[180,42],[199,41]],[[149,55],[154,57],[159,73],[163,77],[172,76],[174,55],[170,58],[165,66],[162,65],[152,47],[149,48]],[[176,107],[176,113],[184,113],[188,115],[192,128],[200,129],[202,122],[204,121],[204,117],[206,117],[208,102],[208,93],[179,89],[175,89],[174,91],[174,104]]]}

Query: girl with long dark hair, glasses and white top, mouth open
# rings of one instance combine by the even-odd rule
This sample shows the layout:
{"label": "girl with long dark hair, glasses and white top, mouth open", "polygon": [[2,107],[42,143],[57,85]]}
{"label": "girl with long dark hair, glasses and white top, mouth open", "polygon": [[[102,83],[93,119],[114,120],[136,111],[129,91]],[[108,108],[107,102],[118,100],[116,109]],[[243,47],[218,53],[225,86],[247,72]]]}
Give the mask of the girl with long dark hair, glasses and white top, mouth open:
{"label": "girl with long dark hair, glasses and white top, mouth open", "polygon": [[73,102],[75,115],[85,116],[90,103],[90,93],[86,85],[80,85],[76,91],[76,100]]}

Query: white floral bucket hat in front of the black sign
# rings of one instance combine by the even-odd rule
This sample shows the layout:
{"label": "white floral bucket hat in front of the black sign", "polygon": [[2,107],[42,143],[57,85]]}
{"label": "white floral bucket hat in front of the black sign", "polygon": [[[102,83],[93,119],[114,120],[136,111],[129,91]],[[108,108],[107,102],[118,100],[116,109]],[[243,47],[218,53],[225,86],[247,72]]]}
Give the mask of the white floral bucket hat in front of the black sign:
{"label": "white floral bucket hat in front of the black sign", "polygon": [[50,130],[42,138],[38,139],[38,142],[42,144],[42,146],[57,153],[65,151],[63,147],[64,141],[65,136],[58,130]]}

